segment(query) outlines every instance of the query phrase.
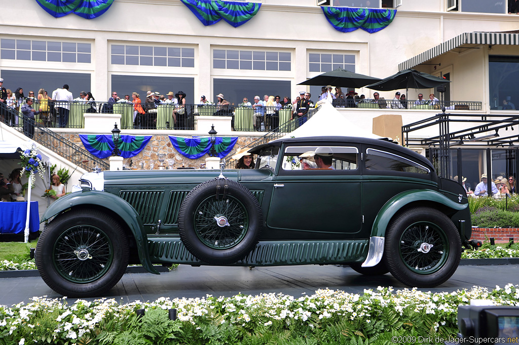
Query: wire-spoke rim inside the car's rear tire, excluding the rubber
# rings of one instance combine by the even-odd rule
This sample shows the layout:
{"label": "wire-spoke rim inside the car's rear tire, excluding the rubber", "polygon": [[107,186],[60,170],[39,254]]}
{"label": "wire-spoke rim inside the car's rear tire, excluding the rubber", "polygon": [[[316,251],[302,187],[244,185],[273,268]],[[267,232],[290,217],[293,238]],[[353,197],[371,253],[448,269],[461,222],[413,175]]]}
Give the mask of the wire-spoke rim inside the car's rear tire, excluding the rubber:
{"label": "wire-spoke rim inside the car's rear tire, excluding the rubber", "polygon": [[412,224],[400,237],[402,261],[418,274],[429,274],[441,268],[448,250],[445,232],[430,222]]}

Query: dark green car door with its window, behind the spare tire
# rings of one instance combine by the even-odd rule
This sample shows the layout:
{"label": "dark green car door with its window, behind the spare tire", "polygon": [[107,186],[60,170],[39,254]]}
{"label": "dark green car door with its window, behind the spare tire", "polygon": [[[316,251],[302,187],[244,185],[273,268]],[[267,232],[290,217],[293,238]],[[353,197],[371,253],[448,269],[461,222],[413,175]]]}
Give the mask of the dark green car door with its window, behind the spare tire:
{"label": "dark green car door with its window, behind the spare tire", "polygon": [[[319,147],[333,151],[334,169],[307,169],[304,156]],[[355,145],[285,145],[267,226],[301,239],[351,238],[362,229],[359,148]],[[295,234],[294,231],[298,231]]]}

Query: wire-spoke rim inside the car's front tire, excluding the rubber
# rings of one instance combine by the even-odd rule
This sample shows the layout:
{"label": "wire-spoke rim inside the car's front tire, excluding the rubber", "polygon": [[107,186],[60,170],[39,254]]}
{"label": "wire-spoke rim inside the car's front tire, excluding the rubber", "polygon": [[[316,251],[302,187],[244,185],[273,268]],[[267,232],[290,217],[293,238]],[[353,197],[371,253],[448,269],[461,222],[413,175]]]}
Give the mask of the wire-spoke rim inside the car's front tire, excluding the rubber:
{"label": "wire-spoke rim inside the car's front tire, excluding the rubber", "polygon": [[63,232],[54,243],[52,263],[64,279],[89,283],[102,277],[113,257],[112,242],[101,229],[79,225]]}

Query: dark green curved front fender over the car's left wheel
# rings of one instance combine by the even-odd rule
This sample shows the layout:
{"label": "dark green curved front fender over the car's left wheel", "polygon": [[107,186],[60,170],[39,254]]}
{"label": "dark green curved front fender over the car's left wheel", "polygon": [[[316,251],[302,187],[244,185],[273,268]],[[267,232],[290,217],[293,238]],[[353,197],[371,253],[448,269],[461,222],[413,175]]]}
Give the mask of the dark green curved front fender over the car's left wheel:
{"label": "dark green curved front fender over the car's left wheel", "polygon": [[45,222],[45,220],[50,217],[56,216],[67,209],[88,205],[92,205],[98,209],[105,209],[109,213],[117,214],[135,237],[142,266],[150,273],[159,274],[149,260],[148,247],[145,245],[147,243],[147,236],[141,217],[132,205],[113,194],[97,190],[84,190],[68,194],[59,198],[47,208],[40,223]]}

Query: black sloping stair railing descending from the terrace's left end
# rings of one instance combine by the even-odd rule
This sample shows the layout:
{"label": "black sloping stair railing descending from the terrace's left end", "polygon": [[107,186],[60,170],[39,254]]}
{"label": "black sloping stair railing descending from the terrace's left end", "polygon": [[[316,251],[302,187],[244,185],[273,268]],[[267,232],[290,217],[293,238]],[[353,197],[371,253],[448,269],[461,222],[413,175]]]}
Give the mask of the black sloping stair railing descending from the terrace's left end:
{"label": "black sloping stair railing descending from the terrace's left end", "polygon": [[0,114],[2,114],[2,122],[6,123],[6,125],[24,133],[35,142],[54,151],[80,168],[87,171],[93,171],[94,168],[100,168],[102,170],[108,170],[110,168],[107,162],[91,155],[86,149],[54,133],[45,125],[38,122],[38,120],[35,121],[21,116],[15,109],[7,107],[3,103],[0,103]]}

